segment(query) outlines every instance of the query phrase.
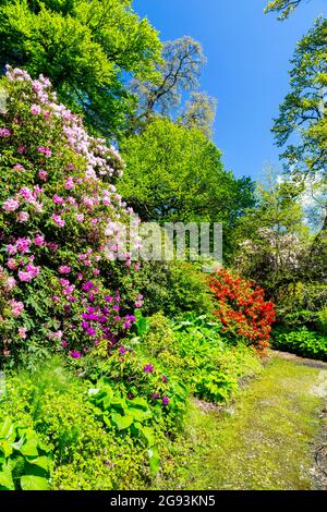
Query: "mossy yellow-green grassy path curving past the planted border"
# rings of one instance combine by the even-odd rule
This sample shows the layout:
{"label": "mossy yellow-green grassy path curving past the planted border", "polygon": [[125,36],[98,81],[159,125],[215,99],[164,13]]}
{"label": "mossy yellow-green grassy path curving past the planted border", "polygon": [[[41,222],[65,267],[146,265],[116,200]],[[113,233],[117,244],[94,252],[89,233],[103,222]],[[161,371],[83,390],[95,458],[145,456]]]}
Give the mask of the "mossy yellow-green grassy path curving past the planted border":
{"label": "mossy yellow-green grassy path curving past the planted border", "polygon": [[187,461],[182,488],[312,488],[327,368],[296,363],[272,357],[225,412],[194,404],[189,431],[201,448]]}

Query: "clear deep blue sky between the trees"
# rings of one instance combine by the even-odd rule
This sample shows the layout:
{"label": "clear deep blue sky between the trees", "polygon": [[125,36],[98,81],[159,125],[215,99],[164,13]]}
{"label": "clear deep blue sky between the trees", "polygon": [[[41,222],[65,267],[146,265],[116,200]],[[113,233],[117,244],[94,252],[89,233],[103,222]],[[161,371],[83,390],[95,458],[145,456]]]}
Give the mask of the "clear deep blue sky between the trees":
{"label": "clear deep blue sky between the trees", "polygon": [[296,41],[326,0],[304,0],[289,20],[264,14],[265,0],[134,0],[162,40],[192,36],[208,58],[202,89],[218,100],[215,142],[238,176],[258,179],[266,162],[279,164],[270,133],[289,90],[289,60]]}

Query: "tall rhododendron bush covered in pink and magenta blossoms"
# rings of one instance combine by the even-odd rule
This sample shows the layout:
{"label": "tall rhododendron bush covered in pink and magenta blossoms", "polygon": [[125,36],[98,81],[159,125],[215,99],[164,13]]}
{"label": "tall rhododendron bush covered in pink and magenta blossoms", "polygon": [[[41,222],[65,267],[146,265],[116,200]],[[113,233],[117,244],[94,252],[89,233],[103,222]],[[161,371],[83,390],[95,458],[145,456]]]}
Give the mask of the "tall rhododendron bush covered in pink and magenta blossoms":
{"label": "tall rhododendron bush covered in pink and magenta blossoms", "polygon": [[131,214],[114,187],[123,162],[47,78],[8,66],[1,100],[1,357],[110,349],[142,305],[131,254],[112,257],[125,251],[117,225]]}

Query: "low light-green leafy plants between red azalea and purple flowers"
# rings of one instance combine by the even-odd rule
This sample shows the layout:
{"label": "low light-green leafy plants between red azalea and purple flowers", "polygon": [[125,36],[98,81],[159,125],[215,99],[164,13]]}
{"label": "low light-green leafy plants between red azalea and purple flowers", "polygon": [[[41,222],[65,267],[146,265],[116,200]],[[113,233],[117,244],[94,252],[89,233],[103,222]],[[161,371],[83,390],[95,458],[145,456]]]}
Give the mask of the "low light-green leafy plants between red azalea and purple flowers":
{"label": "low light-green leafy plants between red azalea and purple flowers", "polygon": [[162,314],[148,319],[138,316],[136,327],[135,350],[150,351],[158,364],[201,399],[223,402],[244,376],[261,369],[255,350],[229,342],[221,336],[221,326],[206,315],[190,314],[179,320]]}

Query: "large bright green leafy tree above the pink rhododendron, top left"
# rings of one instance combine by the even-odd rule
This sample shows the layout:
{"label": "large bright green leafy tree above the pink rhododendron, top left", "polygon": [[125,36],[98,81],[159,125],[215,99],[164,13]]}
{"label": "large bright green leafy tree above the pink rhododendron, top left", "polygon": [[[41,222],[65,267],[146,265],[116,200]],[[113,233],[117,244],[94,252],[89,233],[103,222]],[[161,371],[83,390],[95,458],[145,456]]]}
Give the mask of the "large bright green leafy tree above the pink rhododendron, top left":
{"label": "large bright green leafy tree above the pink rhododendron, top left", "polygon": [[107,137],[135,106],[125,81],[148,80],[161,44],[132,0],[1,0],[0,64],[48,76],[60,99]]}

